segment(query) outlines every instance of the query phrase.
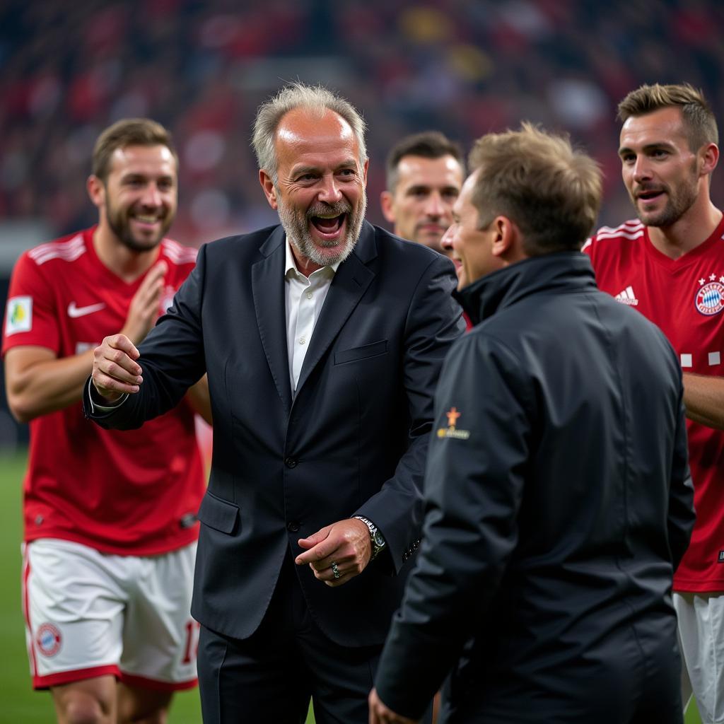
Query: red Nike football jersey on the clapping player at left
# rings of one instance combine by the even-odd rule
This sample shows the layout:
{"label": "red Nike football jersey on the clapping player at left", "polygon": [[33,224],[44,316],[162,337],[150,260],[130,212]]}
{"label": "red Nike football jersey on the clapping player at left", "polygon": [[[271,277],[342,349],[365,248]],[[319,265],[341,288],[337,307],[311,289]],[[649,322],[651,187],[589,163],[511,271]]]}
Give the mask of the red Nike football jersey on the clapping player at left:
{"label": "red Nike football jersey on the clapping player at left", "polygon": [[[35,247],[10,282],[3,348],[46,347],[70,357],[120,331],[143,277],[132,284],[101,263],[93,231]],[[194,249],[164,239],[165,311],[195,264]],[[88,369],[90,374],[90,368]],[[155,555],[198,537],[205,490],[194,415],[182,401],[138,430],[104,430],[80,402],[30,422],[25,540],[62,538],[108,553]]]}

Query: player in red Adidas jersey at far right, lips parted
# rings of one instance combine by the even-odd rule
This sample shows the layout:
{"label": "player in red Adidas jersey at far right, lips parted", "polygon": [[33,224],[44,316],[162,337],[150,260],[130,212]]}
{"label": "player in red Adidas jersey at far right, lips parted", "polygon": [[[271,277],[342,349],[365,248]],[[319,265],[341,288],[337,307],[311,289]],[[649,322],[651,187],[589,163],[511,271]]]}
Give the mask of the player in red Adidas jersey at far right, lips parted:
{"label": "player in red Adidas jersey at far right, lips parted", "polygon": [[680,357],[697,518],[674,575],[674,605],[702,721],[721,722],[724,219],[710,199],[717,125],[702,93],[686,84],[641,86],[618,115],[623,182],[639,219],[603,227],[584,251],[599,287],[654,321]]}

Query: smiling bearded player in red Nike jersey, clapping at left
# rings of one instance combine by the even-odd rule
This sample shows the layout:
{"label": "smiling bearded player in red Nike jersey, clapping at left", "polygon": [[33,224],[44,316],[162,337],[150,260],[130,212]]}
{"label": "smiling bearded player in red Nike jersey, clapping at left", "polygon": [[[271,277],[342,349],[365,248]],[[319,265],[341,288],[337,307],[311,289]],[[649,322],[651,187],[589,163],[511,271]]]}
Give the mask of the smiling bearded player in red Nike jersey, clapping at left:
{"label": "smiling bearded player in red Nike jersey, clapping at left", "polygon": [[[136,344],[172,303],[195,250],[165,238],[177,154],[161,125],[115,123],[93,151],[98,225],[23,254],[3,354],[14,416],[30,422],[23,607],[36,689],[60,723],[161,723],[196,683],[190,618],[195,513],[205,489],[194,410],[208,389],[132,432],[83,418],[93,348]],[[192,399],[193,398],[193,399]]]}

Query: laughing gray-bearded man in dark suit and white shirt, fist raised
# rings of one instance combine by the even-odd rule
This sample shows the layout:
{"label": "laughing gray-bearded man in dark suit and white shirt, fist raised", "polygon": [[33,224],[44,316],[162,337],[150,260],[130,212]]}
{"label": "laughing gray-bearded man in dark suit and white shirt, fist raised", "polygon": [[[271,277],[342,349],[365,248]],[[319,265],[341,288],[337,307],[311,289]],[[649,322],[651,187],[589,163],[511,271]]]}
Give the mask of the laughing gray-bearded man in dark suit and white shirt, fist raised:
{"label": "laughing gray-bearded man in dark suit and white shirt, fist raised", "polygon": [[[206,722],[366,722],[418,546],[442,359],[463,330],[449,259],[364,221],[364,123],[296,84],[263,104],[281,226],[201,248],[141,345],[106,337],[88,416],[133,428],[205,371],[214,417],[192,613]],[[296,565],[295,565],[296,564]]]}

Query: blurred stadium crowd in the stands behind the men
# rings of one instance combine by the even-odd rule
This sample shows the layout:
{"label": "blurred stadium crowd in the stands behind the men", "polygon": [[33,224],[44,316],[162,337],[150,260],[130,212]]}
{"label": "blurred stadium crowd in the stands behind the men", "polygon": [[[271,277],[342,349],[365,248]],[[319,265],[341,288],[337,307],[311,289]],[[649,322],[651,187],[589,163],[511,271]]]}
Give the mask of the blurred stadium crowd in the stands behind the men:
{"label": "blurred stadium crowd in the stands behind the men", "polygon": [[[201,245],[274,222],[249,145],[285,81],[340,91],[369,124],[369,218],[384,156],[437,128],[469,148],[522,119],[567,130],[606,177],[600,222],[633,215],[615,107],[645,82],[689,81],[724,119],[724,3],[715,0],[4,0],[0,5],[0,293],[29,246],[93,224],[98,133],[129,116],[180,151],[172,236]],[[715,176],[715,202],[724,182]],[[0,401],[0,409],[1,409]],[[0,447],[22,442],[0,413]]]}

